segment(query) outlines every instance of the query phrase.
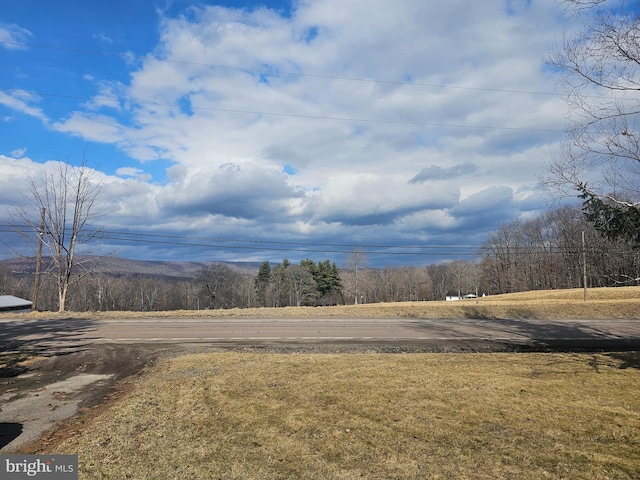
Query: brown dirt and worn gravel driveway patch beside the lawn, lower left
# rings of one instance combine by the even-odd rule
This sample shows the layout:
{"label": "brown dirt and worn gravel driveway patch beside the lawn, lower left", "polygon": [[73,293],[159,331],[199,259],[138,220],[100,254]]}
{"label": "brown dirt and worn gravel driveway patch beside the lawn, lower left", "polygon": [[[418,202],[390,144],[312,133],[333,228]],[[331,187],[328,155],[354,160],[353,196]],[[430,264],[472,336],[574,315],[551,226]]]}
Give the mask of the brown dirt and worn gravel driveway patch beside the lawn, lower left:
{"label": "brown dirt and worn gravel driveway patch beside the lawn, lower left", "polygon": [[0,452],[43,450],[83,416],[131,391],[145,367],[184,352],[176,345],[114,344],[38,359],[23,355],[21,368],[0,375]]}

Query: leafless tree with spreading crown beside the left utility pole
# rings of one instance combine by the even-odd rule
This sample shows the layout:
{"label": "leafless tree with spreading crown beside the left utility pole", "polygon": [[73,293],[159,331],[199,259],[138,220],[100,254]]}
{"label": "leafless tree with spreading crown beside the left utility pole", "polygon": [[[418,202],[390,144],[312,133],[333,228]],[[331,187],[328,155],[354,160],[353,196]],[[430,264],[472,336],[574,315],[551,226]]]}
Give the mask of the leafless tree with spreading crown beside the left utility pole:
{"label": "leafless tree with spreading crown beside the left utility pole", "polygon": [[83,278],[78,247],[100,233],[91,222],[105,213],[99,204],[101,190],[86,160],[79,167],[58,162],[53,173],[31,177],[29,191],[21,192],[23,204],[11,208],[13,229],[38,252],[38,259],[44,247],[50,261],[44,273],[55,278],[59,311],[65,310],[69,287]]}

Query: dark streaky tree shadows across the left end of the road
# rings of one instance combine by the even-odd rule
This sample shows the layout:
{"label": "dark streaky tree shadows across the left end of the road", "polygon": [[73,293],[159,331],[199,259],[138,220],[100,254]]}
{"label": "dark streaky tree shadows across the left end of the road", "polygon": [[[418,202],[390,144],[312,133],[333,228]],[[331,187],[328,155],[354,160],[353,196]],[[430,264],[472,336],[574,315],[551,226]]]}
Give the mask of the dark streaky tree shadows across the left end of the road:
{"label": "dark streaky tree shadows across the left end of the road", "polygon": [[91,341],[87,337],[95,322],[82,318],[11,319],[0,317],[0,378],[26,373],[34,357],[79,352]]}

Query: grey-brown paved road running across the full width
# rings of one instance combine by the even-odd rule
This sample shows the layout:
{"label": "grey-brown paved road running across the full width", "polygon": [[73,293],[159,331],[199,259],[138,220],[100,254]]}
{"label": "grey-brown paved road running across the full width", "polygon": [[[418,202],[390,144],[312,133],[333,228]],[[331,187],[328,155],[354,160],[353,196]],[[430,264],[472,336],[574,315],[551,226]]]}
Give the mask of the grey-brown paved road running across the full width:
{"label": "grey-brown paved road running across the full width", "polygon": [[18,348],[89,344],[221,346],[353,344],[412,349],[640,350],[640,320],[528,319],[64,319],[0,318],[0,343]]}

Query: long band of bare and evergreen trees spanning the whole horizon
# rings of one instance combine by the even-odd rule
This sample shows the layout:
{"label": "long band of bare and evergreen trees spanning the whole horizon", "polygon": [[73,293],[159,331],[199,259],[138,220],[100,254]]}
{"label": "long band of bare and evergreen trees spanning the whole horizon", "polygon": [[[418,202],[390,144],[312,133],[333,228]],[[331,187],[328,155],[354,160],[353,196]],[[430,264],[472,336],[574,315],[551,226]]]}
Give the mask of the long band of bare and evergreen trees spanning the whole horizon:
{"label": "long band of bare and evergreen trees spanning the whole horizon", "polygon": [[[315,306],[443,300],[447,294],[500,294],[640,284],[635,238],[603,235],[578,207],[561,207],[530,220],[503,224],[472,260],[420,267],[368,268],[366,258],[340,270],[330,260],[259,267],[214,263],[196,278],[72,272],[66,307],[75,311],[162,311]],[[583,243],[584,232],[584,243]],[[624,238],[624,237],[623,237]],[[43,269],[38,308],[56,310],[58,283]],[[33,273],[0,267],[0,294],[31,298]]]}

